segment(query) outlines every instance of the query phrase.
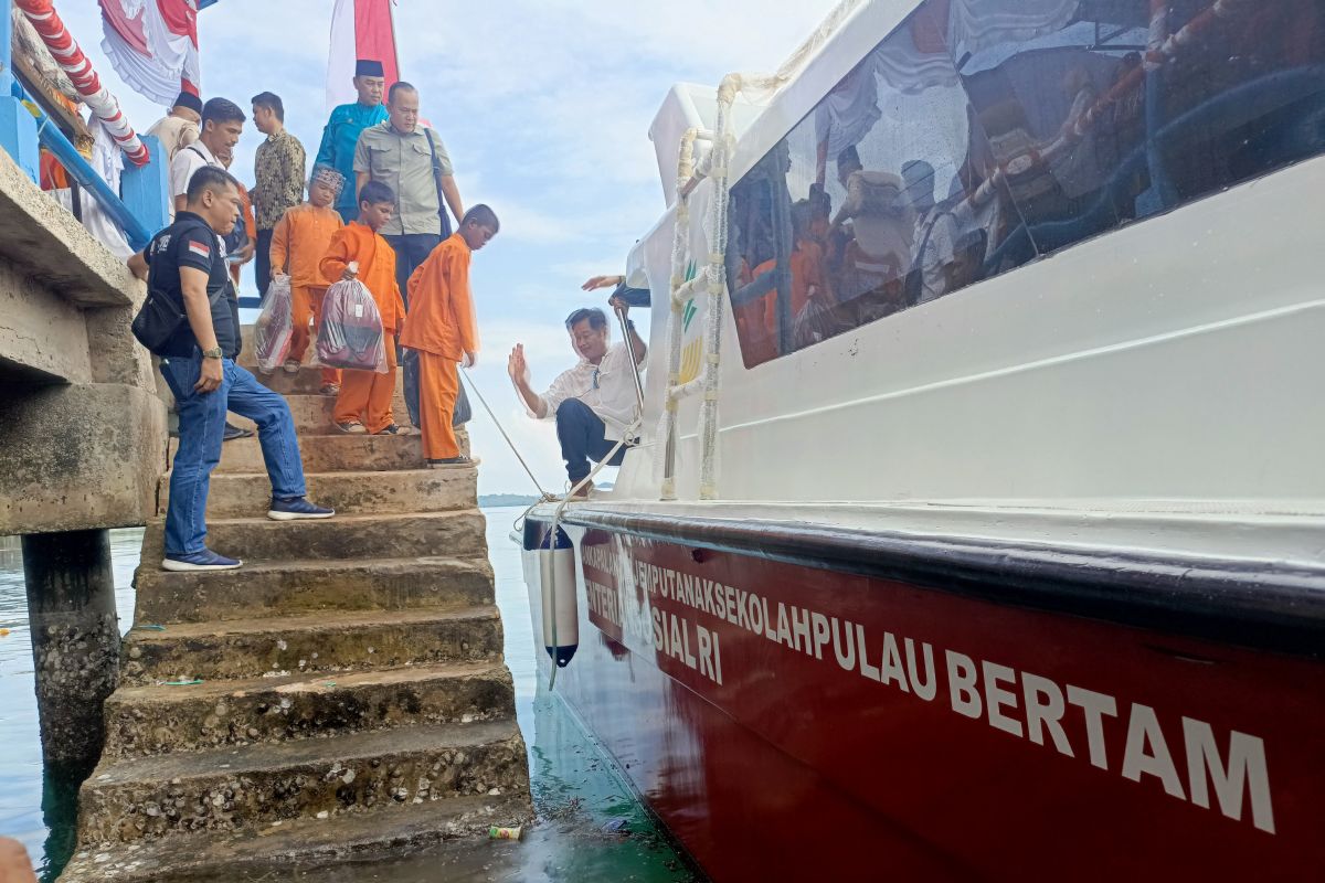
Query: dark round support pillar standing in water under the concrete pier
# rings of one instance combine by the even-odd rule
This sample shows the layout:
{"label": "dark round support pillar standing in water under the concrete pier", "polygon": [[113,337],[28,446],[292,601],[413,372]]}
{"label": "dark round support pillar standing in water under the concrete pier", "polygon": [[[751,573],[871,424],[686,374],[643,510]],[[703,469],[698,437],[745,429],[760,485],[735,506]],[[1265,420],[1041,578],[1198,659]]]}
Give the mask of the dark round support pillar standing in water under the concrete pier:
{"label": "dark round support pillar standing in water under the concrete pier", "polygon": [[119,675],[110,531],[24,536],[23,571],[42,753],[48,764],[95,764]]}

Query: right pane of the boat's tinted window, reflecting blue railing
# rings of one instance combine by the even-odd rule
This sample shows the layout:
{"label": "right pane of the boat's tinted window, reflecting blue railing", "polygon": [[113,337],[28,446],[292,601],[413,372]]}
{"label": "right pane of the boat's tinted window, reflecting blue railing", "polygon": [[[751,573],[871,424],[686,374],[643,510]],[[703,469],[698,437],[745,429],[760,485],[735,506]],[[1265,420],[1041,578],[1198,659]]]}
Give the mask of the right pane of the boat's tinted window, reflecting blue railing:
{"label": "right pane of the boat's tinted window, reflecting blue railing", "polygon": [[[1024,0],[951,0],[990,21]],[[1318,0],[1083,0],[1059,21],[950,32],[1040,253],[1321,151]]]}

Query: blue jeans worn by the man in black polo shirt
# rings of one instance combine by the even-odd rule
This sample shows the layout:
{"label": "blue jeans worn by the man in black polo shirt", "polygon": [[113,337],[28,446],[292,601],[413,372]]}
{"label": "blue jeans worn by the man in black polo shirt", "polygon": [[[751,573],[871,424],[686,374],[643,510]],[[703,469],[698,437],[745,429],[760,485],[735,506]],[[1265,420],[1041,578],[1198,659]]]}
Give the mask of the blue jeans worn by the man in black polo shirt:
{"label": "blue jeans worn by the man in black polo shirt", "polygon": [[179,450],[170,473],[170,508],[166,511],[166,553],[201,552],[207,539],[207,491],[212,470],[221,462],[225,412],[257,424],[262,459],[273,496],[303,496],[303,459],[294,436],[294,420],[285,398],[272,392],[229,359],[221,360],[221,385],[196,392],[203,371],[197,351],[189,357],[162,360],[162,376],[179,410]]}

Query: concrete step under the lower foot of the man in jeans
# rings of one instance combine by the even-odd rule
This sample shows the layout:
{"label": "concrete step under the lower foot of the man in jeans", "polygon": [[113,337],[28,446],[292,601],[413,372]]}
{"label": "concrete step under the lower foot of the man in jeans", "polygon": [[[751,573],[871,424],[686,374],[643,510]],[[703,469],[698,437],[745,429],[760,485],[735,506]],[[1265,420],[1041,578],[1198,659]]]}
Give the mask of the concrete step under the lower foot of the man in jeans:
{"label": "concrete step under the lower foot of the man in jeans", "polygon": [[238,571],[171,573],[155,559],[134,576],[142,625],[257,620],[333,610],[448,610],[493,604],[482,557],[249,561]]}

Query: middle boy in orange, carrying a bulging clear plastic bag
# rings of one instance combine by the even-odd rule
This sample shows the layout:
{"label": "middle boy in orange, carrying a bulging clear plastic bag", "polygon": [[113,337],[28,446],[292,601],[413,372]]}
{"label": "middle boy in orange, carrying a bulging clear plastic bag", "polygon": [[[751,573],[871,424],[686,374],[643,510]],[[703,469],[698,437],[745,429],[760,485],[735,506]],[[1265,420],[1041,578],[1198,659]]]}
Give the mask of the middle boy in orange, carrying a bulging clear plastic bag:
{"label": "middle boy in orange, carrying a bulging clear plastic bag", "polygon": [[387,351],[387,373],[375,371],[342,371],[341,395],[335,400],[335,425],[344,433],[374,436],[409,436],[413,430],[398,426],[391,413],[391,396],[396,389],[396,347],[392,339],[400,332],[405,304],[396,285],[396,253],[378,230],[391,220],[396,195],[382,181],[368,181],[359,191],[359,220],[331,236],[331,245],[322,258],[322,275],[327,279],[363,282],[382,315],[383,343]]}

